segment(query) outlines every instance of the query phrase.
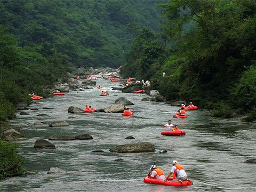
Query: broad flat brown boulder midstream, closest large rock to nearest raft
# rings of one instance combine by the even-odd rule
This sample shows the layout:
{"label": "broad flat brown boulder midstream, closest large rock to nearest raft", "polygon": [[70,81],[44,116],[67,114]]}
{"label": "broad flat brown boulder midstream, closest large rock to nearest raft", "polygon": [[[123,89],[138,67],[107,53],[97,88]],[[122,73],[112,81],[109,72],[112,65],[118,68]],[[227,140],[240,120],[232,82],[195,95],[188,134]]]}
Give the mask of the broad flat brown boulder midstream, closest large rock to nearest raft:
{"label": "broad flat brown boulder midstream, closest large rock to nearest raft", "polygon": [[154,152],[155,145],[150,142],[130,143],[119,145],[110,149],[110,152],[116,153],[141,153],[141,152]]}

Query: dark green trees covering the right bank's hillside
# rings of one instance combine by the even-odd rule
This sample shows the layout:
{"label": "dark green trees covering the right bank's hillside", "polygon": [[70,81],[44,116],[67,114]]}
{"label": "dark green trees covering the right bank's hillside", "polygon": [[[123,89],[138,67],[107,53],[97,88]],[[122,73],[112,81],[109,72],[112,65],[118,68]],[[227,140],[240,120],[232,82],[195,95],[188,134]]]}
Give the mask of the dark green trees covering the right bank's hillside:
{"label": "dark green trees covering the right bank's hillside", "polygon": [[140,30],[123,75],[150,79],[166,99],[193,101],[214,109],[214,116],[249,112],[246,120],[255,119],[256,2],[172,0],[160,6],[161,33]]}

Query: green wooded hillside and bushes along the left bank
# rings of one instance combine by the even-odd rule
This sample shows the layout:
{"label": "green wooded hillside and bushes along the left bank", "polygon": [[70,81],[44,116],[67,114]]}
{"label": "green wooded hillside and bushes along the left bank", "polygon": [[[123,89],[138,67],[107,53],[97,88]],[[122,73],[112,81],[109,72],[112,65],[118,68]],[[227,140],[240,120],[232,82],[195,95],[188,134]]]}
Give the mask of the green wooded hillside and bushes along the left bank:
{"label": "green wooded hillside and bushes along the left bank", "polygon": [[[77,67],[118,67],[137,26],[157,30],[161,1],[1,1],[1,136],[28,93],[46,97]],[[0,141],[0,179],[22,175],[17,145]]]}

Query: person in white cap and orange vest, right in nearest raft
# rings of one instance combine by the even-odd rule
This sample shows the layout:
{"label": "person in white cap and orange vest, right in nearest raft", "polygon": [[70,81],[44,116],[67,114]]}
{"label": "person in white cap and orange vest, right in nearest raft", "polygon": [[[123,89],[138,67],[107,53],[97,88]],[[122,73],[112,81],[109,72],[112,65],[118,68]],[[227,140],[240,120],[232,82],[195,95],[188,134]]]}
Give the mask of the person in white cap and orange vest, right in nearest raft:
{"label": "person in white cap and orange vest, right in nearest raft", "polygon": [[[178,164],[178,162],[176,160],[174,160],[172,162],[172,168],[170,173],[167,175],[166,178],[169,178],[171,175],[173,174],[173,180],[179,180],[181,182],[181,184],[183,183],[182,181],[190,181],[188,179],[188,175],[185,172],[184,167],[182,167],[180,164]],[[190,181],[192,182],[192,181]]]}

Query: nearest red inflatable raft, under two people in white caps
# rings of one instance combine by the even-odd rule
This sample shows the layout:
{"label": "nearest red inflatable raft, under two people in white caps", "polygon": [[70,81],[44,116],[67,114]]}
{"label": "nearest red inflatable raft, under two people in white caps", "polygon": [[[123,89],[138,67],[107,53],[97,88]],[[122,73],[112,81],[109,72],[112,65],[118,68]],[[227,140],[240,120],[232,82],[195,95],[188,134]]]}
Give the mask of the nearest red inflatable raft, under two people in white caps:
{"label": "nearest red inflatable raft, under two people in white caps", "polygon": [[[169,177],[171,178],[171,177]],[[188,186],[188,185],[192,185],[191,181],[182,181],[182,183],[180,181],[173,181],[171,179],[168,179],[167,181],[162,181],[162,180],[157,180],[154,178],[150,178],[150,177],[146,177],[144,178],[144,182],[145,183],[151,183],[151,184],[158,184],[158,185],[166,185],[166,186]]]}

